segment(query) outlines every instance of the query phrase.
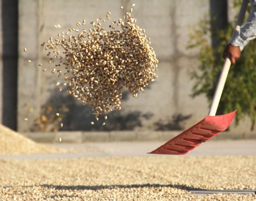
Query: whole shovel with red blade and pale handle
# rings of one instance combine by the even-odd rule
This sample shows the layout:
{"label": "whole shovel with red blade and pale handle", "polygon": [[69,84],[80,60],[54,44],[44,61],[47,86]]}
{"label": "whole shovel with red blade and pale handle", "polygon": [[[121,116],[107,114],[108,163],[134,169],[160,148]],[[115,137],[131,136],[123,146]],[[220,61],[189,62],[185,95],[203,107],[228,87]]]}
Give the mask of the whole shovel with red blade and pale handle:
{"label": "whole shovel with red blade and pale handle", "polygon": [[[239,29],[243,23],[247,5],[248,0],[243,0],[233,37],[236,34],[239,34]],[[236,110],[225,115],[215,116],[230,66],[231,61],[226,57],[208,115],[202,121],[166,142],[166,144],[149,152],[150,154],[184,155],[193,150],[196,146],[199,146],[202,142],[213,138],[213,136],[218,135],[221,131],[226,130],[227,127],[230,126],[230,123],[235,117]]]}

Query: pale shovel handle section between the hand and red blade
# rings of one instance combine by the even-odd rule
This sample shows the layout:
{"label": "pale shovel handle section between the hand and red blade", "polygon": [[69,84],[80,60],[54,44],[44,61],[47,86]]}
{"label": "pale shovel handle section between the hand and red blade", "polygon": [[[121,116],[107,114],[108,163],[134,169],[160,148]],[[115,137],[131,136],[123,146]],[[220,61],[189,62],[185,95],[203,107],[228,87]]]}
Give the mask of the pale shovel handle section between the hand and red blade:
{"label": "pale shovel handle section between the hand and red blade", "polygon": [[227,75],[228,75],[230,66],[231,66],[231,61],[229,58],[226,58],[223,66],[222,66],[221,75],[218,79],[218,84],[217,84],[217,87],[215,89],[215,93],[214,93],[214,96],[212,99],[212,104],[211,104],[211,107],[210,107],[210,110],[208,113],[209,116],[215,116],[215,114],[216,114],[216,111],[218,109],[218,104],[221,100],[221,94],[224,89],[224,85],[225,85],[225,82],[227,79]]}

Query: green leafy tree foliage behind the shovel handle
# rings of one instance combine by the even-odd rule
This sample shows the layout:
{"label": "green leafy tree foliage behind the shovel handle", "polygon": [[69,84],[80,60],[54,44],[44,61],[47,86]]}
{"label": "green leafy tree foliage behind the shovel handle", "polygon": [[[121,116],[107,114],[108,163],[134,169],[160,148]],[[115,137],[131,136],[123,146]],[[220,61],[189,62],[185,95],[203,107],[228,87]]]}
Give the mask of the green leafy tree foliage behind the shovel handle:
{"label": "green leafy tree foliage behind the shovel handle", "polygon": [[[234,6],[240,6],[239,0]],[[247,13],[248,15],[248,13]],[[190,34],[189,48],[199,49],[199,70],[192,72],[195,80],[192,96],[205,94],[209,103],[215,91],[219,74],[224,60],[222,53],[233,34],[236,19],[226,29],[211,29],[211,22],[205,18],[201,20]],[[218,45],[212,48],[209,36],[218,38]],[[218,107],[218,114],[225,114],[237,109],[236,123],[245,116],[249,116],[254,128],[256,120],[256,39],[251,40],[242,51],[241,57],[234,66],[231,66],[224,91]]]}

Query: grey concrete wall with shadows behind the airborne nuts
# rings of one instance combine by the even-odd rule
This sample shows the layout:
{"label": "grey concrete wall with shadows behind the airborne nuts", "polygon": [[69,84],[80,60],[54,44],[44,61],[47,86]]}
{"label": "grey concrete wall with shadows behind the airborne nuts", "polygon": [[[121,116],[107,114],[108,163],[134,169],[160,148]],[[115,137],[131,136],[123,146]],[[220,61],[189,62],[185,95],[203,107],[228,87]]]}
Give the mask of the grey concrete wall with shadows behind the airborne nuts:
{"label": "grey concrete wall with shadows behind the airborne nuts", "polygon": [[[94,126],[90,108],[82,106],[64,91],[58,92],[58,78],[50,73],[46,53],[40,43],[49,36],[65,32],[84,19],[95,20],[111,11],[111,17],[122,17],[125,9],[136,3],[133,17],[151,37],[151,46],[159,59],[159,76],[144,93],[133,98],[124,91],[121,111],[108,114]],[[121,11],[120,6],[124,6]],[[189,72],[198,66],[198,52],[187,49],[189,28],[196,25],[206,13],[210,2],[206,0],[22,0],[19,4],[19,78],[18,78],[18,130],[33,130],[33,119],[54,101],[64,103],[70,112],[64,118],[63,130],[177,130],[192,126],[204,118],[208,103],[204,96],[190,97],[193,82]],[[60,24],[61,29],[54,25]],[[28,50],[22,52],[23,47]],[[27,63],[31,59],[32,63]],[[48,68],[42,72],[37,64]],[[28,112],[29,108],[33,112]],[[24,122],[25,117],[29,118]],[[242,126],[241,129],[244,129]],[[247,128],[245,128],[247,129]]]}

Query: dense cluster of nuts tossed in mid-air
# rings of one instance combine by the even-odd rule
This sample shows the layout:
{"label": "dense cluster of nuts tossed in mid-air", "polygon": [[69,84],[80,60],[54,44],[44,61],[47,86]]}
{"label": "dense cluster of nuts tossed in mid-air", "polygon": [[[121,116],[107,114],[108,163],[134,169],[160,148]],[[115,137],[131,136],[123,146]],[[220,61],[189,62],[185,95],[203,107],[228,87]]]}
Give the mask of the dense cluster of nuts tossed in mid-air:
{"label": "dense cluster of nuts tossed in mid-air", "polygon": [[[96,118],[121,109],[123,86],[137,97],[138,91],[144,91],[157,78],[158,60],[149,46],[150,38],[135,24],[131,12],[132,8],[122,19],[112,20],[108,29],[102,23],[111,20],[111,12],[107,12],[106,20],[99,16],[90,22],[90,29],[71,28],[41,44],[49,51],[47,56],[52,55],[51,72],[59,78],[64,75],[64,86],[69,86],[67,93],[87,103]],[[84,20],[76,26],[85,24]],[[62,90],[60,86],[58,89]]]}

